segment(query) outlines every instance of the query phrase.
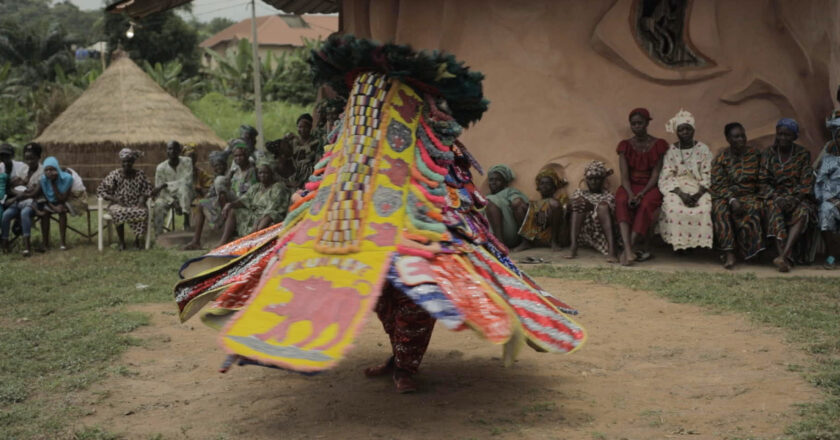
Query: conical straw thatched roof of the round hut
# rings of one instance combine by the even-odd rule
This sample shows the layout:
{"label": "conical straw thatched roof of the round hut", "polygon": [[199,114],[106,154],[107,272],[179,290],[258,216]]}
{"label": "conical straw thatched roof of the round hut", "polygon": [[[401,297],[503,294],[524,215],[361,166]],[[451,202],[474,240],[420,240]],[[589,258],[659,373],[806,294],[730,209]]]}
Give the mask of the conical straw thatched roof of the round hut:
{"label": "conical straw thatched roof of the round hut", "polygon": [[36,139],[45,147],[80,144],[182,144],[224,146],[225,142],[166,93],[128,56],[118,57]]}

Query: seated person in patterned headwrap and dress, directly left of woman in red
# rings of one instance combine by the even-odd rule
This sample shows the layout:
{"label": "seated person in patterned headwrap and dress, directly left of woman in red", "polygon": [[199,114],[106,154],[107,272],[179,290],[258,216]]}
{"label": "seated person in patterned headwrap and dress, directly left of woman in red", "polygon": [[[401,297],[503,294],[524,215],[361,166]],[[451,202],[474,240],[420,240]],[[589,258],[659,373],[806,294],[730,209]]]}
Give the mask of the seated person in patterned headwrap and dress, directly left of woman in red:
{"label": "seated person in patterned headwrap and dress, directly left of woman in red", "polygon": [[586,165],[583,171],[586,189],[578,188],[572,194],[572,244],[566,258],[577,257],[578,246],[584,244],[606,255],[607,262],[618,262],[613,221],[615,196],[606,186],[607,177],[612,173],[600,160]]}

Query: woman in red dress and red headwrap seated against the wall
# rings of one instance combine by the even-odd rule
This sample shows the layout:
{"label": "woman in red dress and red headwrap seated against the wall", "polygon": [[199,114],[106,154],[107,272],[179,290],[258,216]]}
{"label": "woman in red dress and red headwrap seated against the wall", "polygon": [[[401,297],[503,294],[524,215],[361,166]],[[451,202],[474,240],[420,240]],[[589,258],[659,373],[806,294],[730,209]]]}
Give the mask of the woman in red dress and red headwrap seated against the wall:
{"label": "woman in red dress and red headwrap seated against the wall", "polygon": [[615,192],[615,217],[624,244],[621,264],[625,266],[651,258],[647,251],[637,255],[633,247],[642,238],[647,241],[659,217],[662,193],[657,182],[662,158],[668,151],[668,143],[648,134],[651,117],[647,109],[632,110],[629,119],[633,137],[618,144],[621,186]]}

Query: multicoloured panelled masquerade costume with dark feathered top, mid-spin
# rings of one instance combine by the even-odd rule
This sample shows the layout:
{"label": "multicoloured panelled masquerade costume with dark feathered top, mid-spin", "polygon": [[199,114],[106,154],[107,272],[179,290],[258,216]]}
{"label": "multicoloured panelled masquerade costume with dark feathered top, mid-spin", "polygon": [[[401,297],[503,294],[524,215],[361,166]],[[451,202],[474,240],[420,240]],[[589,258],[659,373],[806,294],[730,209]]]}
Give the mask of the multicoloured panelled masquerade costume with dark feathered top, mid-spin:
{"label": "multicoloured panelled masquerade costume with dark feathered top, mid-spin", "polygon": [[210,304],[225,350],[300,372],[333,367],[374,309],[409,371],[434,320],[506,343],[508,360],[523,343],[578,348],[574,311],[513,265],[480,212],[455,138],[486,109],[481,75],[352,36],[331,37],[312,63],[349,95],[336,142],[284,223],[185,265],[181,319]]}

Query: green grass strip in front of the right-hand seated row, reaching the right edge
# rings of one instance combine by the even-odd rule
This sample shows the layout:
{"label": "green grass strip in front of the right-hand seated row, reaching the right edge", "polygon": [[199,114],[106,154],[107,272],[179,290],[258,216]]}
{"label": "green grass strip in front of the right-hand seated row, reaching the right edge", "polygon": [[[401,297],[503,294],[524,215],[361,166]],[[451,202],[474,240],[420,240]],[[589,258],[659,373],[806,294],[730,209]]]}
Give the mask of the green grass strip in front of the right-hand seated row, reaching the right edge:
{"label": "green grass strip in front of the right-hand seated row, reaching the right edge", "polygon": [[811,365],[790,369],[801,371],[825,396],[822,402],[802,405],[801,421],[786,433],[803,440],[840,439],[840,279],[578,266],[537,266],[528,273],[655,292],[677,303],[743,313],[761,324],[784,329],[813,359]]}

